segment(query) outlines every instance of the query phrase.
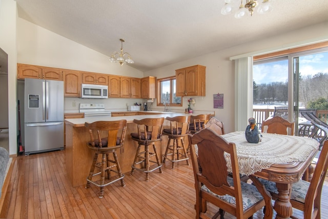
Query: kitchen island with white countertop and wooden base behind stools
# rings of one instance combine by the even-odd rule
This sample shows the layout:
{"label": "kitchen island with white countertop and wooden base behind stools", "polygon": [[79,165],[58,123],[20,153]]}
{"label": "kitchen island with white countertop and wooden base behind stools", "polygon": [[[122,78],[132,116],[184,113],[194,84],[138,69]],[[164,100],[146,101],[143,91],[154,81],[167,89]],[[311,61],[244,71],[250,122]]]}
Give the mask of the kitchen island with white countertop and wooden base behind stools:
{"label": "kitchen island with white countertop and wooden base behind stools", "polygon": [[[213,111],[204,111],[193,113],[193,115],[212,113]],[[66,172],[73,187],[86,184],[86,178],[89,175],[90,167],[93,160],[93,151],[87,146],[87,142],[90,141],[90,135],[88,129],[85,128],[85,122],[93,123],[96,121],[117,121],[127,120],[127,132],[124,141],[124,150],[122,153],[118,151],[118,161],[121,166],[123,173],[128,175],[131,171],[131,165],[133,163],[137,143],[131,139],[131,133],[137,132],[137,125],[133,123],[133,120],[142,120],[143,118],[159,118],[159,117],[174,117],[179,115],[191,115],[186,113],[165,113],[165,114],[150,114],[150,115],[133,115],[133,116],[94,116],[89,118],[71,118],[66,119]],[[164,120],[163,128],[169,128],[170,123]],[[168,137],[162,136],[162,141],[156,143],[157,153],[159,154],[160,160],[165,153],[166,146],[168,143]],[[185,143],[188,144],[188,138],[185,138]],[[99,157],[99,162],[100,162]],[[164,170],[165,171],[165,170]]]}

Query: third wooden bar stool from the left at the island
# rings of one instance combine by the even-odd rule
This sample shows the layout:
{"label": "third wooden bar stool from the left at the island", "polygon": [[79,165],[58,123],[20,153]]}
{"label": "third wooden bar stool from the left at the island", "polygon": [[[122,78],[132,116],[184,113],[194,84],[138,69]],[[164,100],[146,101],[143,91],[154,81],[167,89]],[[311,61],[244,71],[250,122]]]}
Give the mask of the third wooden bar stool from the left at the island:
{"label": "third wooden bar stool from the left at the island", "polygon": [[[169,137],[168,145],[163,155],[163,163],[165,163],[166,159],[171,161],[172,169],[175,168],[175,163],[179,161],[187,161],[187,165],[190,165],[185,142],[183,141],[183,138],[189,132],[190,116],[166,117],[166,120],[170,121],[170,129],[163,129],[163,134]],[[180,140],[181,145],[179,145],[178,140]],[[172,141],[173,143],[171,143]],[[172,153],[169,153],[169,150]],[[183,153],[179,152],[180,150]]]}

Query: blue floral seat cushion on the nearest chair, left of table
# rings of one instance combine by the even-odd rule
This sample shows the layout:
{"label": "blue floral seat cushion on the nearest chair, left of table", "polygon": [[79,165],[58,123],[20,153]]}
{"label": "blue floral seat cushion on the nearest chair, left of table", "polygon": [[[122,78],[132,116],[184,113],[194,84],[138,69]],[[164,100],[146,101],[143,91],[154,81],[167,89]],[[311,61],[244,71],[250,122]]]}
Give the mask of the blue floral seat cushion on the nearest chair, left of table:
{"label": "blue floral seat cushion on the nearest chair, left of table", "polygon": [[[228,183],[233,186],[233,178],[228,177]],[[261,193],[257,190],[257,188],[254,185],[240,182],[241,183],[241,192],[242,192],[242,207],[243,210],[247,210],[248,208],[252,207],[259,201],[263,199]],[[215,195],[218,198],[221,198],[221,200],[224,200],[230,204],[236,205],[236,198],[231,195],[218,195],[210,191],[205,185],[201,187],[202,190],[209,192],[213,195]]]}

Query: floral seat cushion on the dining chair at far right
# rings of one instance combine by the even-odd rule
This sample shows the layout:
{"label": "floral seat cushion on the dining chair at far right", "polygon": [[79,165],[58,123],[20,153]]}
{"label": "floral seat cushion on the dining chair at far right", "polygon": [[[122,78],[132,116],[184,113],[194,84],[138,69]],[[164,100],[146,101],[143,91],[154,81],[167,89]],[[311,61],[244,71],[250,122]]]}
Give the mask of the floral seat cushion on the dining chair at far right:
{"label": "floral seat cushion on the dining chair at far right", "polygon": [[[265,186],[265,189],[267,189],[270,193],[278,194],[278,189],[276,187],[275,182],[263,180],[262,178],[259,178],[259,180]],[[293,183],[291,200],[305,203],[305,196],[306,193],[308,192],[309,186],[310,186],[310,182],[304,180],[300,180],[297,183]]]}

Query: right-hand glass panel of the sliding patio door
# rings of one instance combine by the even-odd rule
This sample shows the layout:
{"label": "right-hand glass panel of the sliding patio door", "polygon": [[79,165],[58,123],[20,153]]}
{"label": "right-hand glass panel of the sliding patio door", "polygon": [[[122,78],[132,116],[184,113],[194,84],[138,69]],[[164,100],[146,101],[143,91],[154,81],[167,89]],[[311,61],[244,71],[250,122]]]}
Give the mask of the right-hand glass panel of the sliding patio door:
{"label": "right-hand glass panel of the sliding patio door", "polygon": [[302,109],[321,110],[320,119],[326,122],[328,110],[328,50],[320,49],[297,53],[293,57],[295,133],[304,123]]}

